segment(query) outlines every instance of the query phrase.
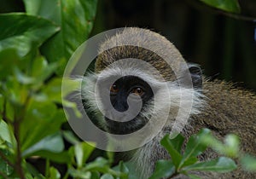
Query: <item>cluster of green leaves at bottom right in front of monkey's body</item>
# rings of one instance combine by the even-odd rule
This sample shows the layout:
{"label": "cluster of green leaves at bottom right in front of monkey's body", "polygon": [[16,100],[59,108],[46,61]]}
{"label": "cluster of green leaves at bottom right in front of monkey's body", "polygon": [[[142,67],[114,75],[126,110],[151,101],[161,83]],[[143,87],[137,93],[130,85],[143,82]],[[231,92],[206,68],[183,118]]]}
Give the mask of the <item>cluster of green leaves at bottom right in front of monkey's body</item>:
{"label": "cluster of green leaves at bottom right in front of monkey's body", "polygon": [[243,156],[239,152],[239,140],[237,136],[226,136],[223,144],[212,136],[211,131],[207,129],[201,130],[198,134],[190,136],[186,147],[182,150],[184,137],[181,135],[170,139],[169,135],[165,136],[161,145],[166,148],[170,154],[170,160],[160,160],[157,162],[154,174],[150,179],[161,177],[173,177],[179,174],[189,176],[190,178],[200,178],[190,171],[213,171],[213,172],[229,172],[236,169],[236,163],[233,159],[227,157],[218,157],[208,161],[199,161],[197,157],[206,151],[207,147],[211,147],[218,153],[232,158],[241,159],[241,165],[246,170],[255,171],[256,159],[252,156]]}

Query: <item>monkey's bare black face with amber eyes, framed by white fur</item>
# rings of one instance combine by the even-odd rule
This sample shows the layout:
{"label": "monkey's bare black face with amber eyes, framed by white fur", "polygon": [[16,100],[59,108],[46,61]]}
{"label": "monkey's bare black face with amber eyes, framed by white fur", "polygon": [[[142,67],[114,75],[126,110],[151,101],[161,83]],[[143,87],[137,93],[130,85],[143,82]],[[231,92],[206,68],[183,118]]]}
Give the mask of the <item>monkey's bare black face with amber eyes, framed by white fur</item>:
{"label": "monkey's bare black face with amber eyes, framed by white fur", "polygon": [[[119,78],[114,84],[108,87],[108,93],[104,93],[103,95],[108,95],[109,90],[111,104],[113,108],[120,113],[124,113],[129,108],[127,103],[128,95],[138,95],[143,101],[143,107],[148,104],[148,101],[150,101],[154,95],[153,90],[148,83],[143,81],[143,79],[134,76]],[[134,99],[133,102],[137,102],[136,100],[137,98]],[[104,106],[104,101],[102,102]],[[107,107],[104,108],[108,111]],[[126,122],[119,122],[122,121],[122,117],[113,116],[113,118],[115,118],[115,120],[105,117],[105,120],[108,132],[116,135],[130,134],[134,131],[140,130],[148,122],[148,119],[141,117],[140,113],[137,114],[135,118]]]}

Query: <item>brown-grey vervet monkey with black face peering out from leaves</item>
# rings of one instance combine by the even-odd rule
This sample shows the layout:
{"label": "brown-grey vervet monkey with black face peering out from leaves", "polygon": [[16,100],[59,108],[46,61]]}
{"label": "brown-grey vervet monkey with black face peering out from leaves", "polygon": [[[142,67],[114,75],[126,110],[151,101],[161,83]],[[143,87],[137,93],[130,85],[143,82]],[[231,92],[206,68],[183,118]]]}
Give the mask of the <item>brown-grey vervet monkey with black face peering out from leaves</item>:
{"label": "brown-grey vervet monkey with black face peering out from leaves", "polygon": [[[123,59],[125,61],[119,61]],[[138,65],[138,61],[146,62],[156,71]],[[109,78],[114,80],[106,83]],[[96,113],[102,107],[108,114],[94,119],[101,130],[122,136],[142,130],[148,124],[148,129],[156,134],[148,140],[150,131],[146,135],[138,132],[137,138],[128,140],[128,143],[119,141],[120,147],[127,147],[133,142],[148,140],[129,154],[141,178],[152,174],[157,160],[169,158],[166,149],[160,146],[160,140],[172,132],[174,125],[186,139],[202,128],[212,130],[220,139],[234,133],[241,138],[243,152],[256,154],[256,96],[223,81],[207,80],[199,66],[184,62],[175,46],[156,32],[132,27],[108,38],[99,49],[95,72],[87,74],[84,82],[84,107]],[[98,94],[92,95],[95,89]],[[102,100],[104,96],[110,99],[110,103]],[[137,97],[141,100],[138,102],[141,108],[139,113],[132,113],[129,104],[137,104]],[[112,110],[108,110],[110,106]],[[119,114],[113,114],[113,110]],[[130,113],[125,113],[127,111]],[[168,118],[164,119],[166,111]],[[177,116],[180,123],[176,121]],[[160,131],[154,131],[156,120],[159,123],[164,121]],[[118,139],[110,137],[111,140]],[[207,150],[200,159],[217,156],[217,153]],[[225,174],[202,172],[199,175],[207,178],[256,178],[255,174],[240,169]]]}

